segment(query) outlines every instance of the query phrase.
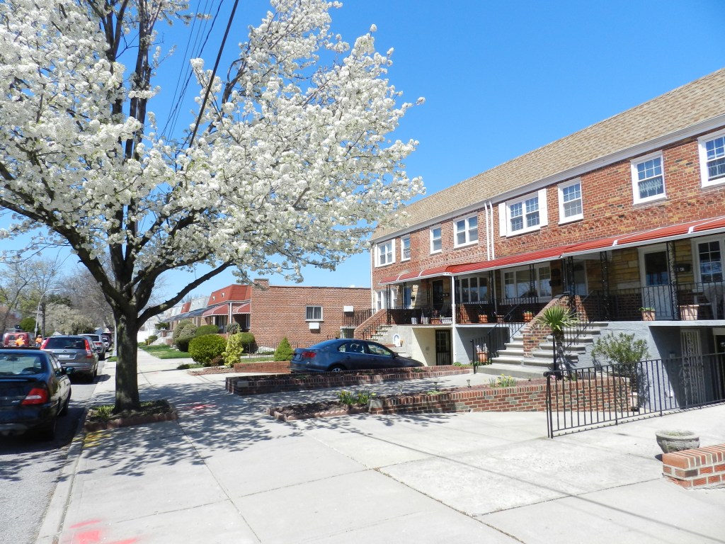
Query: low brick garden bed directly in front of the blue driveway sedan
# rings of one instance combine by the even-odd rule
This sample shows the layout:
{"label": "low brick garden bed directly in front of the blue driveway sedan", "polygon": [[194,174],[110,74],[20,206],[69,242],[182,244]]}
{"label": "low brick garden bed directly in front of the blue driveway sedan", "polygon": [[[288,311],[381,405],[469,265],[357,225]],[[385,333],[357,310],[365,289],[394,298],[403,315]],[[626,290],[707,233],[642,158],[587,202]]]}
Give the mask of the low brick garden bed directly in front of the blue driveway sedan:
{"label": "low brick garden bed directly in front of the blue driveway sedan", "polygon": [[231,376],[226,390],[235,395],[261,395],[288,391],[355,387],[410,379],[438,378],[471,374],[471,366],[422,366],[417,368],[386,368],[318,374],[265,374],[260,376]]}

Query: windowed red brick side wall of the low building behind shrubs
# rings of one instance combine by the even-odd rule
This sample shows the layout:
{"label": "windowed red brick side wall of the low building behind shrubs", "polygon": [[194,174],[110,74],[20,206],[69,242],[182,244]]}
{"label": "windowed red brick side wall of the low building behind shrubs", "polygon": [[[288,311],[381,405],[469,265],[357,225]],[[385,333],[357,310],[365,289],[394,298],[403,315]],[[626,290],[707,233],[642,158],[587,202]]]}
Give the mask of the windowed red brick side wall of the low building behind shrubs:
{"label": "windowed red brick side wall of the low building behind shrubs", "polygon": [[[249,332],[258,346],[276,347],[283,337],[293,344],[321,342],[339,334],[344,306],[370,308],[368,288],[270,286],[267,280],[256,283],[260,287],[254,287],[251,293]],[[318,331],[310,331],[310,323],[305,320],[307,306],[323,307]]]}

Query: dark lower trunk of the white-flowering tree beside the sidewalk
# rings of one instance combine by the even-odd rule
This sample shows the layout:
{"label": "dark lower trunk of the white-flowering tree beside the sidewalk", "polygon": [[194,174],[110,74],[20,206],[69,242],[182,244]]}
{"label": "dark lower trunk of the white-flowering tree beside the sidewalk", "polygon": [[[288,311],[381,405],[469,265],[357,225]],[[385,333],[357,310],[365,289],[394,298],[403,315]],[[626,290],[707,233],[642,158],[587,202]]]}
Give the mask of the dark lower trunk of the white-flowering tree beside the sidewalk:
{"label": "dark lower trunk of the white-flowering tree beside the sidewalk", "polygon": [[136,316],[115,316],[116,321],[116,404],[113,413],[138,410],[138,320]]}

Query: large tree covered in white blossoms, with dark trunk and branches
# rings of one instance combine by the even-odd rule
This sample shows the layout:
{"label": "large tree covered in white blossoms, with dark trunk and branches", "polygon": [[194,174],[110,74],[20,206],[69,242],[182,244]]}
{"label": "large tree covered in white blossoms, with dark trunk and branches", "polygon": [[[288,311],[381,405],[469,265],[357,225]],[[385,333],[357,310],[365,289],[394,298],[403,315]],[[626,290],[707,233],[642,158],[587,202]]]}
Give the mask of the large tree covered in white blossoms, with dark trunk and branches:
{"label": "large tree covered in white blossoms, with dark trunk and branches", "polygon": [[[156,32],[188,19],[184,1],[0,2],[0,207],[15,218],[0,236],[70,246],[103,290],[115,411],[139,404],[136,333],[149,318],[228,268],[334,268],[423,190],[402,163],[416,142],[387,136],[411,104],[386,80],[374,27],[349,45],[330,30],[339,4],[272,4],[234,40],[225,78],[191,61],[199,111],[172,141],[152,112],[167,53]],[[159,276],[199,263],[212,271],[149,302]]]}

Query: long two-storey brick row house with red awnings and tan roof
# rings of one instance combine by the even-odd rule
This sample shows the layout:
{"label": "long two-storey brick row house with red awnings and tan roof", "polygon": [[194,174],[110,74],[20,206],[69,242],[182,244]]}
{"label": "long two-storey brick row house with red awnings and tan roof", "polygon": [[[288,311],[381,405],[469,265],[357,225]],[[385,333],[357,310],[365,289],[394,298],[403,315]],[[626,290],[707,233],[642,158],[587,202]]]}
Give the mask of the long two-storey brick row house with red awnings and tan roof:
{"label": "long two-storey brick row house with red awnings and tan roof", "polygon": [[485,342],[500,353],[513,334],[530,357],[529,312],[550,304],[646,326],[653,358],[713,353],[725,345],[725,70],[406,211],[407,227],[373,235],[374,319],[429,365],[467,363]]}

